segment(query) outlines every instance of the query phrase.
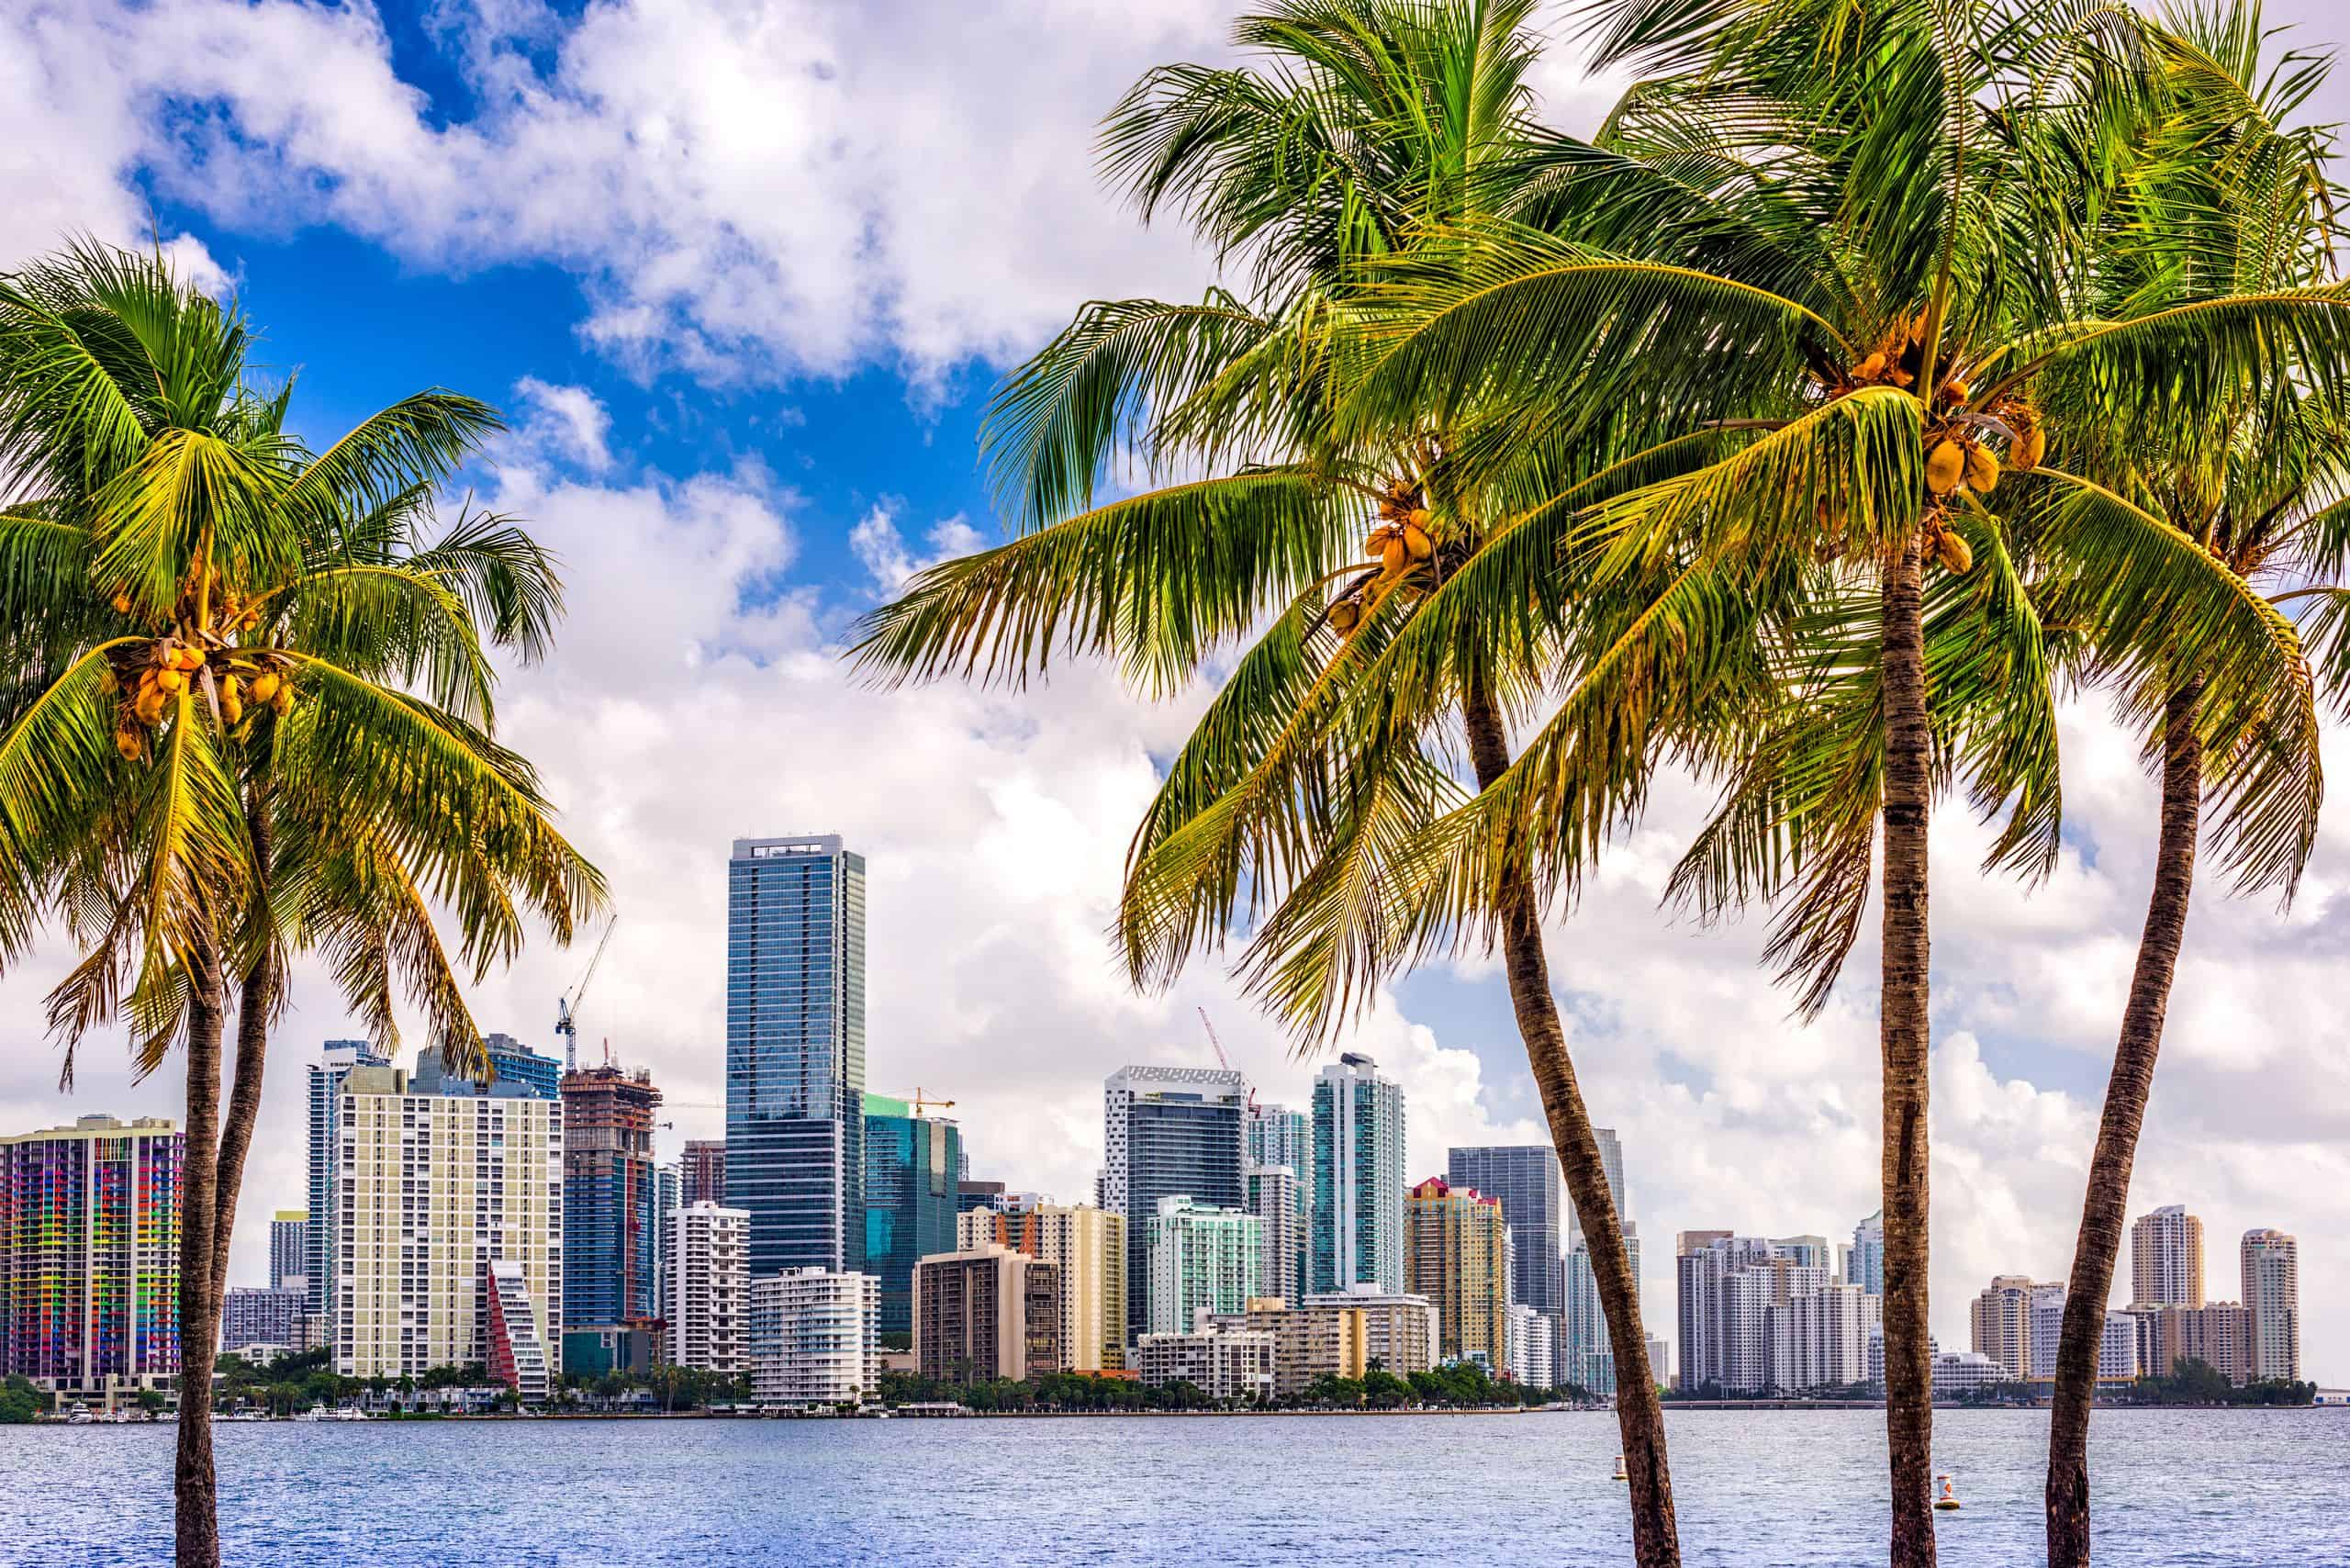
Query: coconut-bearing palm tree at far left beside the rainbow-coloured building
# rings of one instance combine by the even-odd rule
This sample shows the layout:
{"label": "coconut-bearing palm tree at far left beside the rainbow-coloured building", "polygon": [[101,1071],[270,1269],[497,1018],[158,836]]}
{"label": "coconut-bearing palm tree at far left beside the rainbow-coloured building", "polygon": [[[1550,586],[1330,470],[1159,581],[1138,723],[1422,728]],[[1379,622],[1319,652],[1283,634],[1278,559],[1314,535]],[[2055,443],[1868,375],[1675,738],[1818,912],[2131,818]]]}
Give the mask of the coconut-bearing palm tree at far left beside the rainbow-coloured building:
{"label": "coconut-bearing palm tree at far left beside the rainbow-coloured building", "polygon": [[[385,1039],[407,987],[479,1070],[461,971],[602,900],[491,741],[486,644],[543,646],[550,562],[491,517],[416,545],[496,414],[421,393],[313,454],[249,350],[160,256],[73,244],[0,277],[0,964],[52,922],[80,947],[49,994],[63,1081],[113,1020],[139,1072],[186,1053],[183,1368],[216,1354],[287,954],[320,950]],[[174,1486],[179,1561],[209,1568],[204,1399],[181,1401]]]}

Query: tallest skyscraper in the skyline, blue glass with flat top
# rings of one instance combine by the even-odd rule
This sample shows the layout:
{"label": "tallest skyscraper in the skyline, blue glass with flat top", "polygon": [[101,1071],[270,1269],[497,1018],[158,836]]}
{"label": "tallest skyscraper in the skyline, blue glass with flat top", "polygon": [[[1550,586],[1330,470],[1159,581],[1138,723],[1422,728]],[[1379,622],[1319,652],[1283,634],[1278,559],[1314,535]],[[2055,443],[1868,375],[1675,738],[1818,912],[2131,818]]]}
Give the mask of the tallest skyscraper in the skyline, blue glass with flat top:
{"label": "tallest skyscraper in the skyline, blue glass with flat top", "polygon": [[752,1274],[865,1267],[865,856],[837,835],[726,863],[726,1204]]}

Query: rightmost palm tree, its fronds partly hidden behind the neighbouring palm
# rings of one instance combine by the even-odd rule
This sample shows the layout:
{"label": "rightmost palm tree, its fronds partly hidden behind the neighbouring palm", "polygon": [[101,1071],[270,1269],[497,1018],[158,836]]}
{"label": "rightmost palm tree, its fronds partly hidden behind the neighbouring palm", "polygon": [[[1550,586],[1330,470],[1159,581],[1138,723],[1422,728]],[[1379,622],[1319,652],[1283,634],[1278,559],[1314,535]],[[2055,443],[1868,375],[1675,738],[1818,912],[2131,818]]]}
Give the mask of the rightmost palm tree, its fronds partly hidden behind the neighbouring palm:
{"label": "rightmost palm tree, its fronds partly hidden behind the neighbouring palm", "polygon": [[[2277,129],[2322,82],[2326,56],[2289,52],[2263,61],[2258,7],[2183,12],[2178,33],[2153,31],[2167,92],[2146,127],[2150,179],[2134,181],[2113,228],[2124,237],[2162,233],[2157,254],[2108,247],[2103,284],[2115,299],[2193,301],[2242,289],[2319,282],[2331,275],[2336,193],[2324,162],[2329,136]],[[2181,155],[2186,153],[2186,155]],[[2193,235],[2178,244],[2176,235]],[[2336,371],[2308,367],[2326,383]],[[2056,383],[2063,400],[2094,388]],[[2148,752],[2162,759],[2155,879],[2138,940],[2129,999],[2106,1084],[2096,1152],[2089,1161],[2080,1239],[2066,1288],[2049,1415],[2047,1540],[2052,1568],[2089,1561],[2089,1413],[2096,1403],[2106,1300],[2122,1246],[2129,1173],[2153,1093],[2162,1023],[2186,936],[2204,802],[2230,842],[2225,870],[2240,891],[2282,889],[2291,898],[2317,830],[2322,766],[2312,686],[2341,701],[2345,433],[2341,409],[2303,386],[2221,388],[2207,433],[2188,447],[2101,442],[2082,468],[2113,484],[2084,503],[2134,508],[2193,541],[2193,569],[2242,599],[2242,646],[2270,661],[2265,691],[2214,701],[2193,651],[2171,656],[2162,625],[2099,628],[2099,642],[2138,651],[2108,654],[2124,712],[2150,724]],[[2096,421],[2087,421],[2094,433]],[[2120,491],[2120,494],[2115,494]],[[2124,498],[2127,496],[2127,498]],[[2049,595],[2096,616],[2094,583],[2059,581]],[[2059,609],[2059,614],[2066,614]],[[2301,614],[2298,628],[2287,625]],[[2312,672],[2308,651],[2319,668]],[[2319,679],[2322,677],[2322,679]],[[2247,708],[2256,698],[2258,708]]]}

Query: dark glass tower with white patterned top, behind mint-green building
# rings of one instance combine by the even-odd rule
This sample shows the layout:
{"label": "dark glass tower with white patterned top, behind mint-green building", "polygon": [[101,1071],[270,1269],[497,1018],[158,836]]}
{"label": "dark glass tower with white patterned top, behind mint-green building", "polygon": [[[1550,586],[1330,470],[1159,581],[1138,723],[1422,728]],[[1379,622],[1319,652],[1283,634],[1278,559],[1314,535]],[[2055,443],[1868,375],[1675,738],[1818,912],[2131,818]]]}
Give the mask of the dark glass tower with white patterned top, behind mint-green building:
{"label": "dark glass tower with white patterned top, behind mint-green building", "polygon": [[1128,1340],[1152,1324],[1159,1199],[1248,1208],[1246,1112],[1248,1079],[1220,1067],[1121,1067],[1102,1084],[1100,1206],[1126,1215]]}

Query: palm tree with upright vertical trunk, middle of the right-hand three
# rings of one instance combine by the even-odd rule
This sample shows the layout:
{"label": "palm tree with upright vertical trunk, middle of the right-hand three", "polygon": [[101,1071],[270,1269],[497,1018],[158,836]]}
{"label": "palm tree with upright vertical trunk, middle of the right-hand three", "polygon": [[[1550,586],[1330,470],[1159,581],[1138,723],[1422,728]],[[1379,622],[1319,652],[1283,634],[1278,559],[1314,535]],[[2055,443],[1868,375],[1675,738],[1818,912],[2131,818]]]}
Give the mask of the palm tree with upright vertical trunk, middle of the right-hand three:
{"label": "palm tree with upright vertical trunk, middle of the right-hand three", "polygon": [[[2012,811],[1995,863],[2035,870],[2056,851],[2047,672],[2082,630],[2042,618],[2033,552],[2101,585],[2101,618],[2127,607],[2167,625],[2171,656],[2240,712],[2268,712],[2275,651],[2247,644],[2240,595],[2181,569],[2176,529],[2037,470],[2052,435],[2059,451],[2113,430],[2186,442],[2214,388],[2275,386],[2336,353],[2350,301],[2263,287],[2099,313],[2099,181],[2122,106],[2148,92],[2127,12],[1633,0],[1598,21],[1600,63],[1647,80],[1593,146],[1558,150],[1549,200],[1567,216],[1546,235],[1471,226],[1455,254],[1391,266],[1335,425],[1473,411],[1537,440],[1610,411],[1654,451],[1744,435],[1584,503],[1567,564],[1600,592],[1680,574],[1624,654],[1652,663],[1638,710],[1725,778],[1673,886],[1708,912],[1777,900],[1770,957],[1805,983],[1805,1011],[1826,1001],[1875,870],[1892,1561],[1932,1563],[1932,802],[1965,778],[1979,809]],[[2096,393],[2066,428],[2040,414],[2059,381]],[[2021,480],[2002,487],[2002,465]],[[1741,639],[1760,639],[1781,696],[1708,712],[1692,668]],[[1408,903],[1506,910],[1513,877],[1572,877],[1622,802],[1598,733],[1626,710],[1612,679],[1610,663],[1570,679],[1509,773],[1424,835]]]}

